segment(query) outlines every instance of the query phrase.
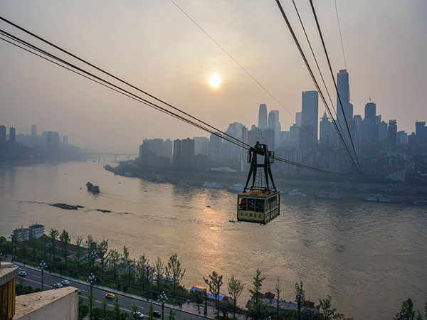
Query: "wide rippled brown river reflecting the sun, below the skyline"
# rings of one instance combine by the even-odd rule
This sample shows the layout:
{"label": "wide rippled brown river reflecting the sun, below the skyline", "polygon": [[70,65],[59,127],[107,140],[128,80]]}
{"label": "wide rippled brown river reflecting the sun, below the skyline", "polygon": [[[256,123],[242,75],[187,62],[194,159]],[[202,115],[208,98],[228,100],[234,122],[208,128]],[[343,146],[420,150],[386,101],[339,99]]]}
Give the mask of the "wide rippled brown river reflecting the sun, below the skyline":
{"label": "wide rippled brown river reflecting the sun, below the skyline", "polygon": [[[263,292],[273,292],[280,276],[289,301],[302,280],[312,301],[331,294],[338,311],[356,320],[392,319],[408,297],[420,309],[427,301],[426,207],[282,196],[280,216],[268,225],[229,223],[236,194],[115,176],[105,163],[0,166],[0,235],[41,223],[73,240],[90,233],[118,250],[126,245],[135,258],[177,253],[187,289],[212,270],[250,287],[259,267]],[[101,193],[89,193],[87,181]]]}

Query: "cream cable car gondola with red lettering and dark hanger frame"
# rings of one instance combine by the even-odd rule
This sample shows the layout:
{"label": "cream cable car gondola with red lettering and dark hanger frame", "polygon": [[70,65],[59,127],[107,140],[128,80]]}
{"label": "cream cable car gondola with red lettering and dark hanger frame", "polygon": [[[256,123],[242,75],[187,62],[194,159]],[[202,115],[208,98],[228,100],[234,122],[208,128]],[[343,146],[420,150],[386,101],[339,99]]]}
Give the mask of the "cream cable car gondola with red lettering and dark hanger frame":
{"label": "cream cable car gondola with red lettering and dark hanger frame", "polygon": [[[258,156],[264,161],[258,164]],[[280,215],[280,191],[275,187],[271,167],[274,151],[268,151],[266,144],[256,143],[248,151],[248,163],[251,164],[243,193],[237,197],[237,220],[266,224]],[[258,172],[258,168],[262,168]],[[252,185],[248,183],[252,177]],[[268,180],[270,178],[272,188]]]}

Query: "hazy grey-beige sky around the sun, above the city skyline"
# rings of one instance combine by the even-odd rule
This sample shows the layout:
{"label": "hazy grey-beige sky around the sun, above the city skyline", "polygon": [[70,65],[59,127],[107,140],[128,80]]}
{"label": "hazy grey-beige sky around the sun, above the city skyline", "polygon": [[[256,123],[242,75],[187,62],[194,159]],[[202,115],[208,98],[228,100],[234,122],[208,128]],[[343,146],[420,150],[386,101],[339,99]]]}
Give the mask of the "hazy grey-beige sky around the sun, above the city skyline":
{"label": "hazy grey-beige sky around the sun, above the city skyline", "polygon": [[[175,1],[292,114],[301,110],[301,91],[315,87],[274,0]],[[332,90],[309,2],[296,3]],[[292,1],[282,4],[308,55]],[[337,5],[354,114],[363,116],[370,96],[382,119],[397,119],[399,130],[413,132],[416,119],[427,120],[427,1],[337,0]],[[315,6],[336,73],[344,61],[334,0],[317,0]],[[3,0],[0,12],[220,129],[230,122],[257,124],[260,103],[280,111],[282,129],[295,122],[169,0]],[[0,26],[33,41],[6,23]],[[37,124],[39,133],[68,134],[78,146],[123,151],[137,151],[145,138],[206,136],[4,41],[0,70],[0,124],[17,132],[29,133]],[[221,78],[216,89],[209,85],[213,74]],[[319,115],[323,112],[320,103]]]}

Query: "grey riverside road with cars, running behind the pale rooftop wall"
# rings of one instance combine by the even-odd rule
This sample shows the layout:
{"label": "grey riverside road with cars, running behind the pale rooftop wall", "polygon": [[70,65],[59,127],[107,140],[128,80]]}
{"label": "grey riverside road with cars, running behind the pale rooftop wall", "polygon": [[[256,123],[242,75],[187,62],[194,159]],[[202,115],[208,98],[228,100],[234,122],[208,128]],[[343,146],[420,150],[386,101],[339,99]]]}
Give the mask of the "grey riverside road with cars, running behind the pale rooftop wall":
{"label": "grey riverside road with cars, running behind the pale rooftop wall", "polygon": [[[41,288],[41,270],[38,270],[35,267],[23,266],[19,262],[14,263],[16,263],[16,265],[18,265],[20,269],[23,269],[27,272],[27,275],[25,277],[19,276],[16,279],[17,282],[23,279],[23,284],[30,285],[33,288]],[[88,283],[85,283],[78,279],[61,276],[60,274],[49,274],[49,272],[46,271],[43,272],[43,289],[53,289],[53,284],[61,282],[63,279],[67,279],[68,281],[70,281],[70,286],[80,289],[80,297],[88,300],[88,295],[90,292],[90,285]],[[122,311],[130,312],[132,309],[132,304],[137,304],[138,311],[141,311],[144,315],[147,314],[149,310],[150,302],[147,302],[146,299],[142,299],[140,297],[133,296],[132,294],[126,294],[125,292],[120,292],[114,289],[98,287],[96,285],[94,285],[93,287],[93,295],[95,296],[94,306],[100,306],[104,299],[106,299],[108,306],[110,306],[110,308],[113,307],[114,300],[105,298],[105,294],[107,292],[112,292],[119,298],[120,309],[122,309]],[[177,320],[184,320],[190,318],[194,320],[213,319],[213,309],[209,308],[209,314],[212,315],[212,317],[208,318],[199,314],[197,307],[193,304],[184,305],[182,309],[179,309],[179,307],[175,308],[173,306],[165,304],[164,319],[167,319],[171,307],[176,312],[175,318]],[[162,312],[162,305],[158,304],[157,302],[153,302],[153,308],[154,310]],[[192,311],[191,309],[194,309],[194,311]],[[200,311],[203,314],[202,308],[200,309]]]}

